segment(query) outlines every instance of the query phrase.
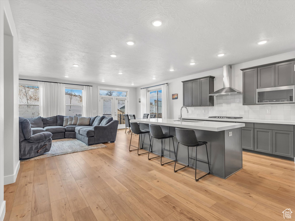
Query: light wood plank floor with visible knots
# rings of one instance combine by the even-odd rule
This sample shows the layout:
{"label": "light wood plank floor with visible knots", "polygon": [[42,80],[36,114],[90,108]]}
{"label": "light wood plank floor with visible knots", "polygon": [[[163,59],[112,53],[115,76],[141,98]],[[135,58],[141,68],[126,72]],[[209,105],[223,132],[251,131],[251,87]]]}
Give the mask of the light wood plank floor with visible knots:
{"label": "light wood plank floor with visible knots", "polygon": [[129,142],[120,130],[106,148],[22,162],[4,186],[4,220],[264,221],[283,220],[287,208],[295,218],[293,161],[243,152],[236,174],[195,182],[194,170],[174,173]]}

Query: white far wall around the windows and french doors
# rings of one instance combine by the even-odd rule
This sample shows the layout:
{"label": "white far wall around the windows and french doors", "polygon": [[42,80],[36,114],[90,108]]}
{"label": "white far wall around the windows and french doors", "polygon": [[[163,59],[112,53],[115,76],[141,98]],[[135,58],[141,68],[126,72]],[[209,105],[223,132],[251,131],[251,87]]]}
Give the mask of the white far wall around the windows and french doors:
{"label": "white far wall around the windows and french doors", "polygon": [[[38,80],[40,81],[51,81],[51,82],[60,82],[65,84],[84,84],[84,85],[92,85],[92,109],[96,110],[96,113],[93,113],[93,116],[99,115],[99,92],[98,92],[98,86],[101,88],[126,88],[129,89],[129,114],[135,114],[136,107],[135,107],[135,87],[120,87],[120,86],[114,86],[114,85],[105,85],[105,84],[94,84],[90,82],[75,82],[70,80],[61,80],[61,79],[53,79],[53,78],[42,78],[42,77],[30,77],[30,76],[19,76],[19,79],[29,79],[29,80],[36,80],[36,84],[38,84]],[[22,81],[19,80],[19,83],[27,82],[29,84],[33,84],[32,81]],[[66,85],[67,86],[67,85]],[[72,87],[77,87],[77,85],[73,85]],[[81,86],[80,86],[81,87]],[[83,86],[81,87],[83,88]]]}

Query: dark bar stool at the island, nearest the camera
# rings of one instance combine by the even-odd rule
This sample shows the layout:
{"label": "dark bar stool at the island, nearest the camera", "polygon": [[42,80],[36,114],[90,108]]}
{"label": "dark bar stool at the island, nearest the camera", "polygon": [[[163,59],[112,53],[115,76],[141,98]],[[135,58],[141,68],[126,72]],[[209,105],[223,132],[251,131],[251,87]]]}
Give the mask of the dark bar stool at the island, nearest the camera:
{"label": "dark bar stool at the island, nearest the camera", "polygon": [[[176,131],[176,138],[178,140],[178,143],[177,143],[177,147],[176,147],[176,157],[175,157],[175,163],[174,163],[174,172],[182,170],[182,169],[184,169],[186,167],[192,168],[192,169],[195,170],[195,180],[196,181],[198,181],[201,178],[203,178],[204,176],[210,174],[210,165],[209,165],[209,157],[208,157],[208,150],[207,150],[207,143],[208,142],[206,142],[206,141],[198,141],[198,139],[196,137],[196,133],[192,129],[175,128],[175,131]],[[187,165],[184,165],[182,163],[177,162],[177,153],[178,153],[178,145],[179,145],[179,143],[181,143],[182,145],[188,147],[187,148],[188,160],[189,159],[195,160],[195,168],[190,167],[189,162],[188,162]],[[207,153],[207,160],[208,160],[207,162],[197,159],[197,149],[198,149],[198,147],[200,147],[202,145],[206,146],[206,153]],[[196,147],[196,158],[189,157],[189,147]],[[209,172],[207,174],[205,174],[204,176],[198,178],[198,179],[197,179],[197,161],[207,163],[208,167],[209,167]],[[176,164],[180,164],[180,165],[182,165],[184,167],[182,167],[182,168],[180,168],[178,170],[175,170]]]}

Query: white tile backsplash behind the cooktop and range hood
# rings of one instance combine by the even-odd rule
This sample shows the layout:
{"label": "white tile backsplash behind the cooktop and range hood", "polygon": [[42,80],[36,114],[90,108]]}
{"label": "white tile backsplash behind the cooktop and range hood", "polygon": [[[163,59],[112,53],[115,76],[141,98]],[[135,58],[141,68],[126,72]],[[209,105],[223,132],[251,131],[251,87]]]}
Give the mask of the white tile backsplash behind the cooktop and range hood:
{"label": "white tile backsplash behind the cooktop and range hood", "polygon": [[[214,107],[188,107],[183,117],[243,117],[248,119],[294,120],[295,104],[243,105],[243,95],[214,97]],[[271,113],[267,113],[267,109]],[[203,113],[205,110],[205,113]]]}

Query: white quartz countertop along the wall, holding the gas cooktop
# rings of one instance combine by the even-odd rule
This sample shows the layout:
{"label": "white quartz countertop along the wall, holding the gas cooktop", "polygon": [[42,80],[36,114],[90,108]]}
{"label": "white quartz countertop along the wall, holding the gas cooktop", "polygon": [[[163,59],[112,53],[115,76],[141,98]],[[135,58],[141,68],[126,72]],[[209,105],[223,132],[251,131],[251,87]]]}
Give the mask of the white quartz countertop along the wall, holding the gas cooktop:
{"label": "white quartz countertop along the wall, holding the gas cooktop", "polygon": [[183,117],[184,119],[192,120],[218,120],[218,121],[232,121],[232,122],[250,122],[250,123],[265,123],[265,124],[289,124],[295,125],[295,121],[292,120],[261,120],[261,119],[224,119],[224,118],[208,118],[208,117]]}

